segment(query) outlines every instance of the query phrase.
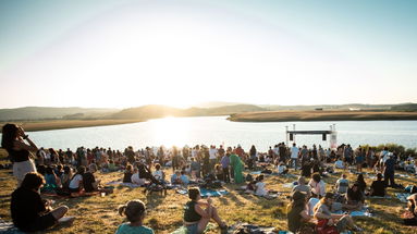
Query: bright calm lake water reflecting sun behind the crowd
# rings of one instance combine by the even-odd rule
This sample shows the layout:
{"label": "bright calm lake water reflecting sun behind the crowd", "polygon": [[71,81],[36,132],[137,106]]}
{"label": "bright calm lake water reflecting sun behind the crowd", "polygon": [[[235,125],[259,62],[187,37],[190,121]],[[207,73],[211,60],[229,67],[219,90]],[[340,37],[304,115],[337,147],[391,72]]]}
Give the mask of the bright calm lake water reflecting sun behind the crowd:
{"label": "bright calm lake water reflecting sun behind the crowd", "polygon": [[[230,122],[226,116],[201,118],[165,118],[142,123],[56,130],[29,133],[32,139],[40,147],[71,148],[111,147],[135,149],[146,146],[164,145],[194,146],[197,144],[236,146],[244,149],[255,145],[266,151],[269,146],[285,141],[285,126],[290,130],[330,130],[335,124],[338,144],[351,144],[354,147],[369,144],[379,145],[395,143],[407,148],[417,147],[417,121],[333,121],[333,122],[274,122],[244,123]],[[297,135],[298,145],[312,144],[329,147],[321,140],[321,135]]]}

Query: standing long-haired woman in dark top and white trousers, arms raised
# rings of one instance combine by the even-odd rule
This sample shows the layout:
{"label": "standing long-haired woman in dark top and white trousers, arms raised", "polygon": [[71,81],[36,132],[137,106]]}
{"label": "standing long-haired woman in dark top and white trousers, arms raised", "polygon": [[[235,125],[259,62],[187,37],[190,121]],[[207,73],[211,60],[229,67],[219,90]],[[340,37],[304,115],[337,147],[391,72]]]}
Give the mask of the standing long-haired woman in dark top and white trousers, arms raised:
{"label": "standing long-haired woman in dark top and white trousers, arms raised", "polygon": [[[4,148],[13,163],[13,175],[17,178],[17,187],[28,172],[36,172],[35,163],[30,159],[30,151],[37,151],[38,147],[29,139],[29,135],[16,124],[3,126],[1,147]],[[26,141],[25,141],[26,140]]]}

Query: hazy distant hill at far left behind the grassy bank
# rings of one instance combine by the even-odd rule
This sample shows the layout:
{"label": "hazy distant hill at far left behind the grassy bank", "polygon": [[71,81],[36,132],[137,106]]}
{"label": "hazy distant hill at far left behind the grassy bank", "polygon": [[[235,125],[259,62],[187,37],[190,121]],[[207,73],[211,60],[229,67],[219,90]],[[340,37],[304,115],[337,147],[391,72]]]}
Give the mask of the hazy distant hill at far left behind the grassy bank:
{"label": "hazy distant hill at far left behind the grassy bank", "polygon": [[71,119],[74,116],[101,118],[116,109],[100,108],[45,108],[25,107],[15,109],[0,109],[0,121],[46,120],[46,119]]}

